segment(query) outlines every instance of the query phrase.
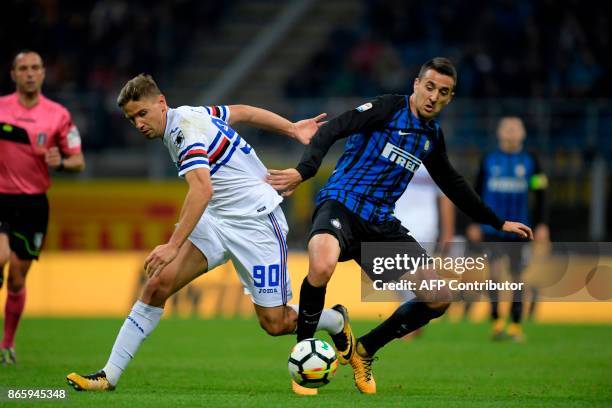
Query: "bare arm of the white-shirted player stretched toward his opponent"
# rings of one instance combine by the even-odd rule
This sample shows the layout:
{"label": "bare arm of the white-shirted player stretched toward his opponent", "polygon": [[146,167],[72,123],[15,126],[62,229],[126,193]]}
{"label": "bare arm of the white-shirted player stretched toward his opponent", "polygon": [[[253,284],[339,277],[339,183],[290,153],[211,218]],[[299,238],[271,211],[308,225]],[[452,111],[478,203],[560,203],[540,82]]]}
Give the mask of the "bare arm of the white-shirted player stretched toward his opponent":
{"label": "bare arm of the white-shirted player stretched toward his opponent", "polygon": [[287,135],[307,145],[325,122],[326,113],[314,118],[291,122],[274,112],[249,105],[230,105],[229,124],[246,123],[250,126]]}

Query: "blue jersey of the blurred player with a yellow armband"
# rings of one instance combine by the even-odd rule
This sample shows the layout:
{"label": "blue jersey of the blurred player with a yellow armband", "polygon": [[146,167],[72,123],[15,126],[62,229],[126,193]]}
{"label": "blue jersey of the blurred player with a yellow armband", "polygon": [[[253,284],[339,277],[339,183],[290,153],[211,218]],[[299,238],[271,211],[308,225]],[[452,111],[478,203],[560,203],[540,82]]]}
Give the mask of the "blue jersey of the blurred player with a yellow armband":
{"label": "blue jersey of the blurred player with a yellow armband", "polygon": [[[537,157],[521,150],[506,153],[496,149],[482,158],[476,191],[500,217],[533,227],[544,218],[544,190],[547,186]],[[530,206],[531,193],[535,202]],[[533,211],[532,211],[533,210]],[[512,234],[483,227],[485,234],[514,239]]]}

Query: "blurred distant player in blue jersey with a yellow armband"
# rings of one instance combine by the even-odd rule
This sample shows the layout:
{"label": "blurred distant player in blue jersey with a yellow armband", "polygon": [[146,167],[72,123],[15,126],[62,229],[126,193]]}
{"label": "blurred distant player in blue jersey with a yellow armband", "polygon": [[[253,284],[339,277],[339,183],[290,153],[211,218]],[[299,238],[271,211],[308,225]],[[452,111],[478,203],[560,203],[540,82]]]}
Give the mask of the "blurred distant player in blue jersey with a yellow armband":
{"label": "blurred distant player in blue jersey with a yellow armband", "polygon": [[[518,220],[526,225],[533,225],[536,241],[548,241],[549,229],[545,219],[545,191],[548,179],[537,156],[527,152],[523,146],[525,140],[525,125],[514,116],[500,120],[497,128],[498,148],[486,154],[480,163],[476,178],[476,191],[484,202],[501,217]],[[530,196],[533,195],[533,202]],[[483,238],[484,235],[484,238]],[[520,281],[521,272],[526,266],[524,259],[524,244],[527,240],[498,231],[488,225],[482,228],[470,225],[467,231],[468,239],[474,242],[483,241],[490,248],[491,279],[501,279],[503,259],[508,255],[510,275],[513,281]],[[503,247],[499,243],[508,242]],[[513,293],[510,318],[512,323],[505,330],[505,319],[500,318],[497,291],[490,291],[491,320],[493,322],[493,338],[501,339],[509,336],[514,341],[524,340],[521,327],[523,313],[523,291]]]}

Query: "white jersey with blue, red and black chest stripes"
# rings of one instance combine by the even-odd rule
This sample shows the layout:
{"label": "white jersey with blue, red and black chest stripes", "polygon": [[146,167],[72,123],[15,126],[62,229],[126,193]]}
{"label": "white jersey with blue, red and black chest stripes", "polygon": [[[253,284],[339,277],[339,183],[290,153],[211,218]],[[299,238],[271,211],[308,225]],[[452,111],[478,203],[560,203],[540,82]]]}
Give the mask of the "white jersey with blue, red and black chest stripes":
{"label": "white jersey with blue, red and black chest stripes", "polygon": [[228,124],[227,106],[169,109],[164,144],[178,175],[210,170],[213,195],[207,211],[220,217],[269,214],[283,200],[265,182],[266,167]]}

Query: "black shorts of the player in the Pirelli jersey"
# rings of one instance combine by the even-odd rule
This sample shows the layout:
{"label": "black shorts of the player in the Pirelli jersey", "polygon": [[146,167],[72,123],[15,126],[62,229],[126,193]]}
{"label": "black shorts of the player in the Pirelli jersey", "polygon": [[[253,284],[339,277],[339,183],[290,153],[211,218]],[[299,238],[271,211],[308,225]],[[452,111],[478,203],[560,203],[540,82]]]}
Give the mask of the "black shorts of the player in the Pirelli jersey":
{"label": "black shorts of the player in the Pirelli jersey", "polygon": [[409,256],[427,257],[427,251],[418,244],[399,220],[373,224],[335,200],[324,201],[312,216],[312,228],[308,239],[322,233],[332,234],[340,242],[338,259],[340,262],[352,259],[362,265],[362,242],[408,242],[414,244],[410,245],[410,251],[413,253]]}

